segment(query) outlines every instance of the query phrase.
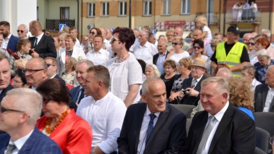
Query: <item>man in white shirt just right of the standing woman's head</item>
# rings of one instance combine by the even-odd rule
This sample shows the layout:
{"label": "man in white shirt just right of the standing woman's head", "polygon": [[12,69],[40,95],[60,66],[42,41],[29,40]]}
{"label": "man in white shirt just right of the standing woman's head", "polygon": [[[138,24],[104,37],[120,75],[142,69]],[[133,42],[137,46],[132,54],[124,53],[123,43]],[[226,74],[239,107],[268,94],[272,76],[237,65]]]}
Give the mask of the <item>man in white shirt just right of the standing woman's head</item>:
{"label": "man in white shirt just right of the standing woman's head", "polygon": [[148,42],[149,33],[141,30],[139,33],[139,42],[134,46],[133,54],[136,59],[142,59],[146,64],[153,64],[153,56],[158,53],[155,45]]}

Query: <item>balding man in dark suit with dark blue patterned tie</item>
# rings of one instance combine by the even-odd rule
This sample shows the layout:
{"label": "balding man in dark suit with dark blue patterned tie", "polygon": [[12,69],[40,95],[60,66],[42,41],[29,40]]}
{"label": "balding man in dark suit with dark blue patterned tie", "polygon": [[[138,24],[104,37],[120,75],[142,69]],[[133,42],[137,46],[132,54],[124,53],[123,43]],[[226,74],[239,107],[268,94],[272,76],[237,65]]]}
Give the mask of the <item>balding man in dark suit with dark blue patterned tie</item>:
{"label": "balding man in dark suit with dark blue patterned tie", "polygon": [[127,108],[117,139],[119,153],[181,153],[186,141],[185,114],[165,102],[161,79],[147,79],[142,91],[146,103]]}

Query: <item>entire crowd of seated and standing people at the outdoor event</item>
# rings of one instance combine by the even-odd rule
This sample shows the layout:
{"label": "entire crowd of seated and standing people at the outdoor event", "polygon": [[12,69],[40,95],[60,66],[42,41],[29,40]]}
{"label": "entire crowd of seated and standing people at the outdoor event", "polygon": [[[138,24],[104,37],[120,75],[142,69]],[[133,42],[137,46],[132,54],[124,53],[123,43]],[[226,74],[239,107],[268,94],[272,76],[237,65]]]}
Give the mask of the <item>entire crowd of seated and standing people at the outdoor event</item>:
{"label": "entire crowd of seated and standing people at the outdoor event", "polygon": [[[80,42],[76,27],[35,20],[14,36],[1,21],[0,153],[253,153],[253,112],[274,112],[271,32],[241,43],[237,26],[195,23],[188,44],[182,26],[93,27]],[[196,106],[189,132],[173,104]]]}

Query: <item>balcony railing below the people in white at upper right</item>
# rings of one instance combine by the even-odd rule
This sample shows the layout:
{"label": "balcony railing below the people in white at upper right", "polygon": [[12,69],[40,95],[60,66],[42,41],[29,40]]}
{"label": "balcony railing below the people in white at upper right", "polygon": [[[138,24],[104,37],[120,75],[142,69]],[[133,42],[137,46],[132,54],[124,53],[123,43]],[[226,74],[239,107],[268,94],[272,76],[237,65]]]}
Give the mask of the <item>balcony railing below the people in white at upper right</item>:
{"label": "balcony railing below the people in white at upper right", "polygon": [[261,11],[253,11],[252,9],[246,10],[227,10],[225,14],[226,23],[241,23],[241,22],[251,22],[260,23],[261,22]]}

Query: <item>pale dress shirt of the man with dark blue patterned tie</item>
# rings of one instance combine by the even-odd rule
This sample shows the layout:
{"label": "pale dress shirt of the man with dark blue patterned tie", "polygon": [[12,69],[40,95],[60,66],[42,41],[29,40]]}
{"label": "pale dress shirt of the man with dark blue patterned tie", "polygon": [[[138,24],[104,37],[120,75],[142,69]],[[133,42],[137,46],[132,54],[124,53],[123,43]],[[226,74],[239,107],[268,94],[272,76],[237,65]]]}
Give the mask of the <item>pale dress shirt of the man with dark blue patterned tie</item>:
{"label": "pale dress shirt of the man with dark blue patterned tie", "polygon": [[[148,124],[150,121],[150,115],[149,115],[150,113],[151,113],[151,111],[148,109],[148,106],[147,106],[147,110],[144,114],[144,118],[143,118],[143,122],[142,122],[142,126],[141,126],[137,154],[144,153],[144,150],[146,147],[146,137],[147,137]],[[155,127],[155,124],[158,121],[160,112],[156,112],[154,114],[156,115],[156,117],[153,120],[153,127]]]}

